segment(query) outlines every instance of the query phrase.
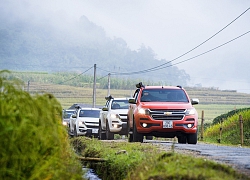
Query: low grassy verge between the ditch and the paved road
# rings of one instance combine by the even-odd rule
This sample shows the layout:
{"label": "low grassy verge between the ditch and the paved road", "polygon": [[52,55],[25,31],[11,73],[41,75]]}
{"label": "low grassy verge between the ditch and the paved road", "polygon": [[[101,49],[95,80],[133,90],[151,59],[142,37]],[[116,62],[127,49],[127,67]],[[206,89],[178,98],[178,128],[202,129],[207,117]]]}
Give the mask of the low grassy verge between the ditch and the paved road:
{"label": "low grassy verge between the ditch and the paved road", "polygon": [[106,160],[87,164],[103,180],[250,179],[227,165],[177,154],[174,150],[165,151],[153,144],[100,141],[85,137],[73,138],[71,143],[81,156]]}

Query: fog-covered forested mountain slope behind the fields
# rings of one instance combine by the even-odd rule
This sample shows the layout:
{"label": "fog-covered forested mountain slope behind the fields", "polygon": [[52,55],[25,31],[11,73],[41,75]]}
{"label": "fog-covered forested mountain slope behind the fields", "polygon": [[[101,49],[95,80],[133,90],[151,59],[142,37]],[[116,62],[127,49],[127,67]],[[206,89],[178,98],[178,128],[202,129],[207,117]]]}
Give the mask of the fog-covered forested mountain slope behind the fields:
{"label": "fog-covered forested mountain slope behind the fields", "polygon": [[[189,75],[171,66],[142,71],[166,63],[150,47],[128,48],[125,40],[107,37],[104,28],[86,16],[74,20],[63,11],[25,9],[26,4],[0,6],[0,69],[16,71],[78,72],[97,65],[97,75],[150,79],[168,85],[186,85]],[[31,8],[31,7],[30,7]],[[138,73],[139,72],[139,73]],[[91,72],[86,72],[92,74]],[[119,73],[128,73],[119,75]]]}

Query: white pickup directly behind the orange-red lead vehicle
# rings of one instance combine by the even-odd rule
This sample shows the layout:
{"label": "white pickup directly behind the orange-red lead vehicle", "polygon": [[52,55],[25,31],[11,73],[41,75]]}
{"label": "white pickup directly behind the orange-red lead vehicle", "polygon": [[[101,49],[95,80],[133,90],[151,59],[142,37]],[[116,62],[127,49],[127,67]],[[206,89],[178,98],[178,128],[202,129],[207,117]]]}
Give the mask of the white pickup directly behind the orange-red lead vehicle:
{"label": "white pickup directly behind the orange-red lead vehicle", "polygon": [[114,139],[114,134],[127,135],[129,98],[105,97],[105,106],[100,112],[99,139]]}

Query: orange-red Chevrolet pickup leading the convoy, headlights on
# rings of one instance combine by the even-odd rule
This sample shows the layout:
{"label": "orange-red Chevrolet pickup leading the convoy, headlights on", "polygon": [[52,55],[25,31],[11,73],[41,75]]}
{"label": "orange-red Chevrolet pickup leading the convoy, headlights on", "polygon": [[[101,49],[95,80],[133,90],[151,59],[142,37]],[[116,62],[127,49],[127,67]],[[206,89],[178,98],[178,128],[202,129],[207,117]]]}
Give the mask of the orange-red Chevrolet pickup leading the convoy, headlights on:
{"label": "orange-red Chevrolet pickup leading the convoy, headlights on", "polygon": [[129,99],[129,142],[143,142],[143,137],[178,138],[178,143],[197,143],[198,114],[181,86],[136,85]]}

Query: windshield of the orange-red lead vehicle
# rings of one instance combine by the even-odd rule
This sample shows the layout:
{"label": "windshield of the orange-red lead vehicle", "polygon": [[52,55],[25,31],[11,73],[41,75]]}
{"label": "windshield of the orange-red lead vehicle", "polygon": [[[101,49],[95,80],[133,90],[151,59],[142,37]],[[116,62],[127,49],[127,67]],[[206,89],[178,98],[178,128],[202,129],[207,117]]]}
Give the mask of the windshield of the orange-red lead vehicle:
{"label": "windshield of the orange-red lead vehicle", "polygon": [[144,89],[141,102],[188,102],[182,89]]}

